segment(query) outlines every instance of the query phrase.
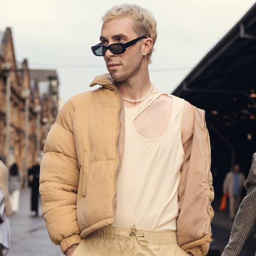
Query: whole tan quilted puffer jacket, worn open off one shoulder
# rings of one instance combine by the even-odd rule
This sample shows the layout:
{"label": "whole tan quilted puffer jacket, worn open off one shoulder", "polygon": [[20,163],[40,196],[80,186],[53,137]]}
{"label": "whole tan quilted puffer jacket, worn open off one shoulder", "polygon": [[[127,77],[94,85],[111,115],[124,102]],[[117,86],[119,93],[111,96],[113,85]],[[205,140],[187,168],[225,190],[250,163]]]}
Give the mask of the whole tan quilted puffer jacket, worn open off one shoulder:
{"label": "whole tan quilted puffer jacket, worn open off one shoulder", "polygon": [[[102,87],[72,97],[59,111],[41,161],[43,217],[52,242],[63,252],[115,218],[123,105],[109,74],[96,77],[95,84]],[[206,255],[211,241],[213,189],[204,111],[194,108],[194,116],[194,134],[183,145],[177,238],[197,256]]]}

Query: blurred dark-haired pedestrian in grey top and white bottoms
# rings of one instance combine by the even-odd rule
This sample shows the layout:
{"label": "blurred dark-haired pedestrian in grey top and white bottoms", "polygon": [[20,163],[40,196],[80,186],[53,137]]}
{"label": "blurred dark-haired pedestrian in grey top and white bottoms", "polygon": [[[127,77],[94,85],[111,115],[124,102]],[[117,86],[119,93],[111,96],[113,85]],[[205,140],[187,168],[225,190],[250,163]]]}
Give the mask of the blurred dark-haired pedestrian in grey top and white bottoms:
{"label": "blurred dark-haired pedestrian in grey top and white bottoms", "polygon": [[13,213],[19,210],[20,183],[21,178],[18,165],[13,163],[9,169],[9,192]]}

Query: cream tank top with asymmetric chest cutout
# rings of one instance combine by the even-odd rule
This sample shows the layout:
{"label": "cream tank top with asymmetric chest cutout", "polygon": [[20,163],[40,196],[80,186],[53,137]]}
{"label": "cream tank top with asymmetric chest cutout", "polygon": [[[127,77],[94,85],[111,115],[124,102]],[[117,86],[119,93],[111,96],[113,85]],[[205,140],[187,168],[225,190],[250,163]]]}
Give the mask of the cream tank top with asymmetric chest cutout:
{"label": "cream tank top with asymmetric chest cutout", "polygon": [[133,108],[125,107],[125,143],[117,176],[114,227],[175,231],[178,217],[178,185],[184,159],[181,119],[184,100],[171,95],[168,127],[161,137],[148,140],[137,133],[135,118],[161,94],[152,95]]}

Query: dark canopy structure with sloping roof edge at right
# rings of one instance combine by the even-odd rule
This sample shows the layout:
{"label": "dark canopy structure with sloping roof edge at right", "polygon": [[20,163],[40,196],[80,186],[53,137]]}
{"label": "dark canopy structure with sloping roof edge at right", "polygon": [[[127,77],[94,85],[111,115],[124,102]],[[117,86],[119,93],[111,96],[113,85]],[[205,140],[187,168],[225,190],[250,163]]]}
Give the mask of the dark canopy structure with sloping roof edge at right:
{"label": "dark canopy structure with sloping roof edge at right", "polygon": [[256,152],[256,4],[172,92],[206,111],[213,180],[239,163],[245,175]]}

